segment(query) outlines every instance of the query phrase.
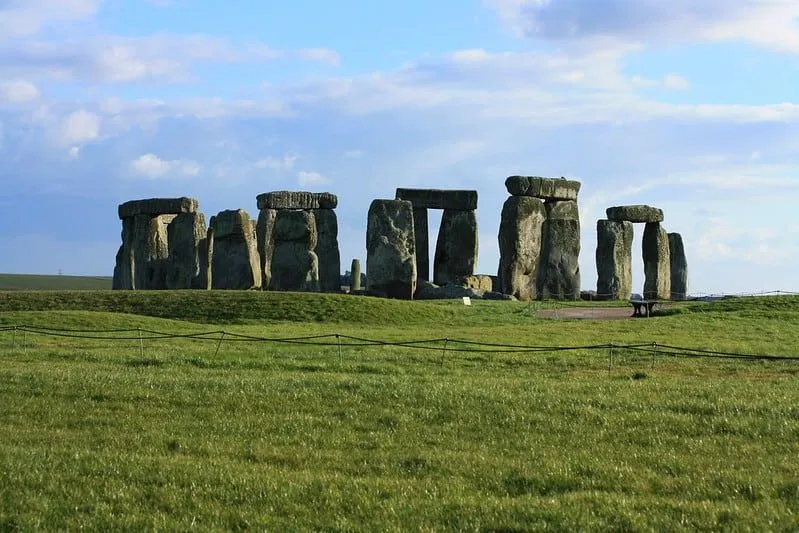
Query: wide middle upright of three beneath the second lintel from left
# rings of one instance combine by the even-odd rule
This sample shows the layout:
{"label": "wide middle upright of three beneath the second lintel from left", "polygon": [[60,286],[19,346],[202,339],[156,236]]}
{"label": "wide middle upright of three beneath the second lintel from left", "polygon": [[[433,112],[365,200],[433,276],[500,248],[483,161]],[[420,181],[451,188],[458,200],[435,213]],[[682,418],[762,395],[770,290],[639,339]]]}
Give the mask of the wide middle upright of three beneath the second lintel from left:
{"label": "wide middle upright of three beneath the second lintel from left", "polygon": [[275,220],[272,279],[275,291],[318,291],[316,217],[311,211],[280,210]]}

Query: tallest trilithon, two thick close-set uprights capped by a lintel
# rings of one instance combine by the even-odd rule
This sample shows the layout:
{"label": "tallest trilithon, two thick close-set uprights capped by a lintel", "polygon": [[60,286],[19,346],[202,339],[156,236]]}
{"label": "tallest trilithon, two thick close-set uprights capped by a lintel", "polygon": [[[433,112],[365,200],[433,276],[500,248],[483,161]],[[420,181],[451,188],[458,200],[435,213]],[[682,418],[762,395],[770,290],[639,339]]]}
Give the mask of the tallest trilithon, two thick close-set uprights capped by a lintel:
{"label": "tallest trilithon, two thick close-set uprights capped by a lintel", "polygon": [[502,208],[498,278],[520,300],[580,297],[581,184],[565,178],[510,176]]}

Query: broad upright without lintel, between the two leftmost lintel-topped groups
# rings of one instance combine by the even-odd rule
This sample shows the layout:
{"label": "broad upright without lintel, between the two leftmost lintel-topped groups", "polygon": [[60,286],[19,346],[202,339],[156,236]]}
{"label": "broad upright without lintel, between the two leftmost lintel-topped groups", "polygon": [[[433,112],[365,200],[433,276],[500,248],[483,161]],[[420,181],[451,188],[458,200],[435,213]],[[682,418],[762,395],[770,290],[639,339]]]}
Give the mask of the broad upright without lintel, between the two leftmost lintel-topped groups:
{"label": "broad upright without lintel, between the two leftmost lintel-topped groups", "polygon": [[[226,210],[211,218],[214,289],[261,288],[261,259],[250,216],[243,209]],[[209,243],[210,245],[210,243]]]}

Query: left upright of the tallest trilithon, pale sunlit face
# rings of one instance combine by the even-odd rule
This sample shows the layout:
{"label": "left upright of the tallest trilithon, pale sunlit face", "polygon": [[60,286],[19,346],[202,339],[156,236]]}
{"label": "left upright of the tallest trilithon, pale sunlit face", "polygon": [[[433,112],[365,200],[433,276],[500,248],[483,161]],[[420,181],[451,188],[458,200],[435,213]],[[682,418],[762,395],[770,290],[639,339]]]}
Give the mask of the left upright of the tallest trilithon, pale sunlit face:
{"label": "left upright of the tallest trilithon, pale sunlit face", "polygon": [[546,217],[544,203],[531,196],[511,196],[499,225],[499,272],[494,290],[531,300],[537,296],[538,259]]}

